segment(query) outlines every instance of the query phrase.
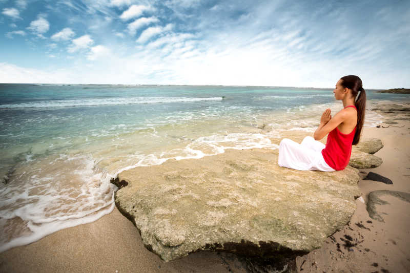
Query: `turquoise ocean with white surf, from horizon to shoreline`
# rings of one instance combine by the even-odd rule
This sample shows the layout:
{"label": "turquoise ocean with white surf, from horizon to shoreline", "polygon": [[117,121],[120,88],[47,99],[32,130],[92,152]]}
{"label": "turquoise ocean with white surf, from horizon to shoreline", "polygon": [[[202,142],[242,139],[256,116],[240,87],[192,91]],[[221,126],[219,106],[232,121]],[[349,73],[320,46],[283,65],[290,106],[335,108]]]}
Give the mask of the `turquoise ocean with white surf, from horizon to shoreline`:
{"label": "turquoise ocean with white surf, from horizon to shoreline", "polygon": [[[0,84],[0,252],[110,213],[122,171],[310,134],[342,109],[332,91]],[[367,90],[367,105],[405,97]],[[367,110],[366,127],[380,121]]]}

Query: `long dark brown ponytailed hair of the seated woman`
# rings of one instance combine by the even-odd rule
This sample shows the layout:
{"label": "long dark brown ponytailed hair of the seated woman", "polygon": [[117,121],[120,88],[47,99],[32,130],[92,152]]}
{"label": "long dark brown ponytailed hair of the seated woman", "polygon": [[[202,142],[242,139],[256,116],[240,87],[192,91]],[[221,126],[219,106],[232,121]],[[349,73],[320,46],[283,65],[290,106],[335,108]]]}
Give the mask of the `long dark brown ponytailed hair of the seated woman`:
{"label": "long dark brown ponytailed hair of the seated woman", "polygon": [[[341,77],[343,87],[347,87],[352,90],[352,95],[355,98],[355,106],[357,109],[357,127],[355,137],[353,138],[352,145],[356,145],[360,140],[360,133],[363,128],[364,112],[366,110],[366,92],[363,89],[362,80],[355,75],[348,75]],[[360,92],[359,96],[357,94]],[[356,98],[357,97],[357,98]]]}

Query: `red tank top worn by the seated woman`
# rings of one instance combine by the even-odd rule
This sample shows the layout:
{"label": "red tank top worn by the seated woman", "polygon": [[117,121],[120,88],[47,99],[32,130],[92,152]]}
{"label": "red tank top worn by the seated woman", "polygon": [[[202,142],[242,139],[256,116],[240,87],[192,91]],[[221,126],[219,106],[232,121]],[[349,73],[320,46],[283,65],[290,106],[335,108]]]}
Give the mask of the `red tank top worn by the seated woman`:
{"label": "red tank top worn by the seated woman", "polygon": [[[346,106],[344,109],[347,107],[356,109],[353,105]],[[343,134],[336,127],[327,135],[326,146],[322,150],[323,159],[327,165],[336,171],[341,171],[347,166],[352,153],[352,143],[355,133],[356,126],[350,134]]]}

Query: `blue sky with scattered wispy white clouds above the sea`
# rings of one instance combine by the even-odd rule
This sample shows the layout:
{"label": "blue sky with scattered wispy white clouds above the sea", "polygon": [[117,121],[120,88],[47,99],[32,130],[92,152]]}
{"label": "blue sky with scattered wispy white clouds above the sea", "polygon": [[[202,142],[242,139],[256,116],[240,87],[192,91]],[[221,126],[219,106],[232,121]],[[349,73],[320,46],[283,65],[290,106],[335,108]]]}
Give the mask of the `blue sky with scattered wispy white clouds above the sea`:
{"label": "blue sky with scattered wispy white clouds above the sea", "polygon": [[410,1],[0,0],[0,82],[410,88]]}

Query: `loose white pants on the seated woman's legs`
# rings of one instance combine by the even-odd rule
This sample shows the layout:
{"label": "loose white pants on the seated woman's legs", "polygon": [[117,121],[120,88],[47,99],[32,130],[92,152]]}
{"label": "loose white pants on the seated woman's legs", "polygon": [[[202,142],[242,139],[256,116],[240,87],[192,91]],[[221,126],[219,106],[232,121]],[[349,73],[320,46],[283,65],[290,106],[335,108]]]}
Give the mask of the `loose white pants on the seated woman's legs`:
{"label": "loose white pants on the seated woman's legs", "polygon": [[301,171],[336,171],[324,161],[322,156],[324,147],[325,145],[322,142],[313,139],[311,136],[305,137],[300,144],[284,138],[279,144],[278,164],[281,167]]}

